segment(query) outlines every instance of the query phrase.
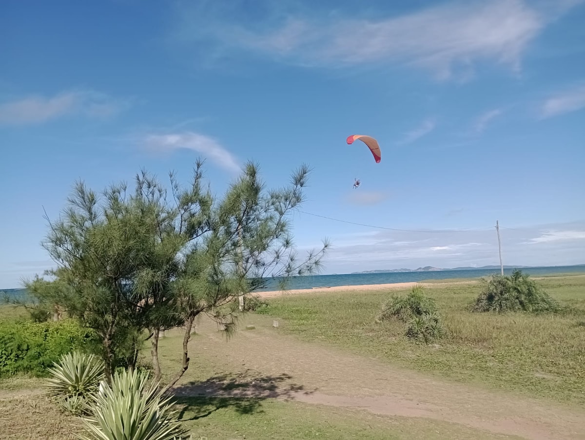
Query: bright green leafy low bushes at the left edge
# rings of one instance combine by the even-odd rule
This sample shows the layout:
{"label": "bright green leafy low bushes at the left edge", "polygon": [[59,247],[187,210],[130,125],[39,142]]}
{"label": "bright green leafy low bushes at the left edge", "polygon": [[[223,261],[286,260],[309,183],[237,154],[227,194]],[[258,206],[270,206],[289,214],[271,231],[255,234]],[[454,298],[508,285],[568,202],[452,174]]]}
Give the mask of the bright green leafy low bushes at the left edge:
{"label": "bright green leafy low bushes at the left edge", "polygon": [[60,356],[76,349],[95,349],[95,334],[72,319],[0,323],[0,377],[44,376]]}

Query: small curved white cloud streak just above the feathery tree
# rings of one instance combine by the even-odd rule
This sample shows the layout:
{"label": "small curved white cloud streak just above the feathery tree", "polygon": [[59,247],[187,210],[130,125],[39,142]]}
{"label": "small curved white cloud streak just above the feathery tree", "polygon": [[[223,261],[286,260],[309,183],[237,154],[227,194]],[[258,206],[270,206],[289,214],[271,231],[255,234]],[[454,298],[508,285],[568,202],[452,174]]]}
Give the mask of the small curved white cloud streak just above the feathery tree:
{"label": "small curved white cloud streak just above the feathery tree", "polygon": [[225,147],[213,137],[195,132],[171,133],[166,135],[148,135],[144,139],[146,146],[157,151],[172,151],[178,149],[194,150],[207,156],[216,165],[239,173],[242,169]]}

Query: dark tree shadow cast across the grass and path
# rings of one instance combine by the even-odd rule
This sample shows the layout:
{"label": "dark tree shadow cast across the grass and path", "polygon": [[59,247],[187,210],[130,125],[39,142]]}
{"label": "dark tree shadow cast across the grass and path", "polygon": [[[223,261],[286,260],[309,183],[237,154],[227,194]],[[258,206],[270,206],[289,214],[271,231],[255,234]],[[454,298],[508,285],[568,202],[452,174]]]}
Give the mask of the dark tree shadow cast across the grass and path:
{"label": "dark tree shadow cast across the grass and path", "polygon": [[314,393],[315,390],[307,391],[304,386],[291,383],[291,379],[289,374],[256,376],[249,370],[238,375],[220,374],[174,388],[174,401],[182,407],[181,420],[197,420],[223,408],[253,414],[262,411],[264,400],[290,400],[296,393]]}

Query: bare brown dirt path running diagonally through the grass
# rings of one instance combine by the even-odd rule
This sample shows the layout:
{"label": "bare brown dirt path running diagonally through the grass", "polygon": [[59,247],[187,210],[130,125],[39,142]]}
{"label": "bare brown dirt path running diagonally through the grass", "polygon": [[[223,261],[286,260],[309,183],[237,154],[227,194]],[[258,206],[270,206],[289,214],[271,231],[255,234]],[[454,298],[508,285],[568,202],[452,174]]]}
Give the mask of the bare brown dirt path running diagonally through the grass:
{"label": "bare brown dirt path running diagonally through the grass", "polygon": [[[531,440],[585,439],[585,408],[512,396],[431,379],[424,374],[353,355],[320,343],[300,341],[252,316],[228,343],[215,324],[197,332],[197,363],[213,363],[242,377],[273,377],[270,386],[180,386],[180,394],[245,394],[293,398],[313,404],[363,409],[384,415],[426,417]],[[267,380],[270,381],[270,380]]]}

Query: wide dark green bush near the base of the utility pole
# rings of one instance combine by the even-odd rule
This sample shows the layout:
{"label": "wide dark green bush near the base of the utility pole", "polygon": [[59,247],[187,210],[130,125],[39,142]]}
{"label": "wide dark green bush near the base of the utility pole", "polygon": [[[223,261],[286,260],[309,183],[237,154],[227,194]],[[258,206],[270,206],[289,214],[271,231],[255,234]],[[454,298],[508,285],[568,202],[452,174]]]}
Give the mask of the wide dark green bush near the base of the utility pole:
{"label": "wide dark green bush near the base of the utility pole", "polygon": [[560,310],[557,301],[521,270],[515,270],[511,276],[494,275],[489,281],[482,278],[481,282],[481,292],[472,305],[474,312]]}

